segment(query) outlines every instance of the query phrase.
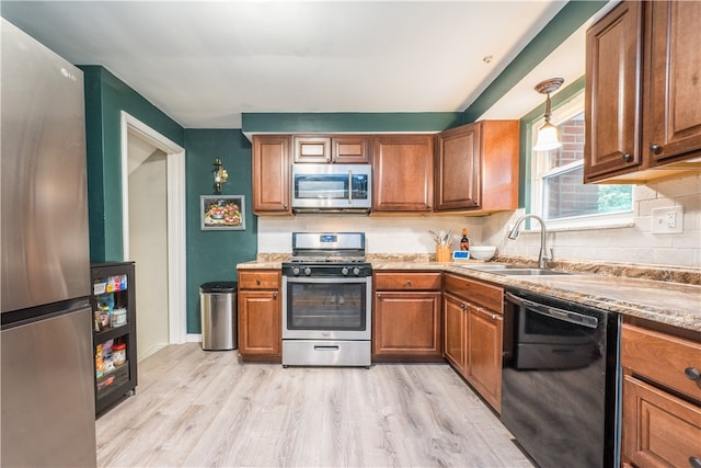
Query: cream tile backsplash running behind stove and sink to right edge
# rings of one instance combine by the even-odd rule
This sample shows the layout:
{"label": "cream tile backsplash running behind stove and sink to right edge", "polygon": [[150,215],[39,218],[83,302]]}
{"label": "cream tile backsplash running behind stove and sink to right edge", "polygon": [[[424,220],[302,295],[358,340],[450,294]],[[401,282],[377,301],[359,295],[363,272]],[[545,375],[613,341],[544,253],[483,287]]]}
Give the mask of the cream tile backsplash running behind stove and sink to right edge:
{"label": "cream tile backsplash running behind stove and sink to right edge", "polygon": [[[552,230],[547,243],[555,259],[610,261],[637,264],[701,266],[701,175],[636,185],[632,222],[606,229]],[[683,232],[652,233],[652,209],[683,207]],[[494,244],[497,253],[538,256],[540,227],[507,239],[507,227],[522,209],[484,217],[466,216],[356,216],[299,215],[258,218],[258,253],[291,252],[292,231],[363,231],[368,253],[434,253],[428,230],[453,230],[458,249],[460,231],[468,228],[472,244]]]}

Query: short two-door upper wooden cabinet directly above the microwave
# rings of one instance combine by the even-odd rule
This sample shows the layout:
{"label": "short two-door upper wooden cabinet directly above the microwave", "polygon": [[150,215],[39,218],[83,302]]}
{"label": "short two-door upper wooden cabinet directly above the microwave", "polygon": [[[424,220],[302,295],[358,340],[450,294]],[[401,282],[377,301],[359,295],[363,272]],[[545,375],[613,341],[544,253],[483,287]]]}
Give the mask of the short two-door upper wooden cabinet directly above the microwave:
{"label": "short two-door upper wooden cabinet directly above the microwave", "polygon": [[368,138],[363,135],[295,135],[292,152],[295,163],[361,164],[370,162]]}

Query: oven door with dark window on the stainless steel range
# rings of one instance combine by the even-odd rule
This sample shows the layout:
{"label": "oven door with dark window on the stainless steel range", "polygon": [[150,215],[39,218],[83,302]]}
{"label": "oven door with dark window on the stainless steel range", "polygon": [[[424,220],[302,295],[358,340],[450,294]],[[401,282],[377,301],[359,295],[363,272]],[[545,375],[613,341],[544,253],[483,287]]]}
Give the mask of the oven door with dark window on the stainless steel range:
{"label": "oven door with dark window on the stainless steel range", "polygon": [[289,283],[288,330],[364,331],[365,283]]}

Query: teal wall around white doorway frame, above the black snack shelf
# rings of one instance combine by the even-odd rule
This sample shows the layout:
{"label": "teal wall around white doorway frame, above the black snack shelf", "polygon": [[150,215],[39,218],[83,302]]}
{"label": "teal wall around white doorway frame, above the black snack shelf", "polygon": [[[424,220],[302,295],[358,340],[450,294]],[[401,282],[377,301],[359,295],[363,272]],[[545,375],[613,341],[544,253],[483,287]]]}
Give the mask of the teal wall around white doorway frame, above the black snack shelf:
{"label": "teal wall around white doorway frame, above the black snack shelf", "polygon": [[183,128],[100,66],[80,67],[85,82],[90,259],[124,260],[122,239],[122,115],[183,145]]}

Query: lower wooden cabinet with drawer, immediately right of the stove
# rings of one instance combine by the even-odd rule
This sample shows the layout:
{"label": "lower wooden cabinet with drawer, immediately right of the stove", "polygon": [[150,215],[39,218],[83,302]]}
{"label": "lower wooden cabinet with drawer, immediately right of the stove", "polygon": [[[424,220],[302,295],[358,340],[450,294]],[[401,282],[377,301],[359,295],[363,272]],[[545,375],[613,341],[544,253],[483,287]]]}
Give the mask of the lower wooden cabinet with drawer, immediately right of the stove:
{"label": "lower wooden cabinet with drawer, immediately right of the stove", "polygon": [[443,361],[440,273],[375,274],[372,359]]}

